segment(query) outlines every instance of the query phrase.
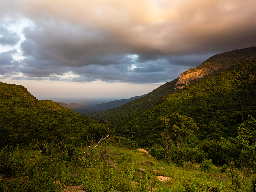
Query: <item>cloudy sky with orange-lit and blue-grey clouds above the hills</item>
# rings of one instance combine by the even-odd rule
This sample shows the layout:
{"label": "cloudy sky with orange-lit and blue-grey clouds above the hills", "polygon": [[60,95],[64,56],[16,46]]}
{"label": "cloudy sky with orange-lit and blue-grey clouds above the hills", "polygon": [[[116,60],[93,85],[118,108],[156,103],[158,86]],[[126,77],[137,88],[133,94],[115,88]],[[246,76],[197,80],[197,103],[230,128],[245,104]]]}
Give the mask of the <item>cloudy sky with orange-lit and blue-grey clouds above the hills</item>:
{"label": "cloudy sky with orange-lit and blue-grey clouds above the hills", "polygon": [[256,46],[255,0],[0,0],[0,81],[37,98],[130,98]]}

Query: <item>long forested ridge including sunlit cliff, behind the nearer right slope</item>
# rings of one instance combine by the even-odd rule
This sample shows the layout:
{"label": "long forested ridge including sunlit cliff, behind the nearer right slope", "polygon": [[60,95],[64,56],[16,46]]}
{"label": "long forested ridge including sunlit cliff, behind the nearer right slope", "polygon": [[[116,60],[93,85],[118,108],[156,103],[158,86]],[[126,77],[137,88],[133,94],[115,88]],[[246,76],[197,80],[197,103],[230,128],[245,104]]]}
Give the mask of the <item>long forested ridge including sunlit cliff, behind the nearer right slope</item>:
{"label": "long forested ridge including sunlit cliff, behind the nearer right slope", "polygon": [[[188,79],[188,84],[200,81],[204,78],[215,76],[231,66],[235,65],[238,62],[252,59],[253,57],[256,57],[256,47],[248,47],[244,49],[236,49],[229,52],[224,52],[221,54],[214,55],[204,61],[201,65],[199,65],[196,68],[188,69],[183,74],[188,75],[189,73],[195,72],[195,77],[193,77],[192,74],[188,75],[190,79]],[[201,70],[201,71],[200,71]],[[200,77],[200,78],[199,78]],[[181,76],[180,76],[181,78]],[[158,87],[157,89],[153,90],[152,92],[148,93],[148,95],[132,100],[129,103],[126,103],[125,105],[119,107],[110,109],[101,113],[93,114],[89,116],[90,118],[98,121],[113,121],[119,118],[122,118],[123,116],[135,113],[140,110],[145,110],[148,108],[151,108],[155,105],[155,103],[168,94],[173,94],[177,92],[178,90],[174,90],[177,86],[178,79],[180,81],[180,78],[174,79],[171,82],[167,82],[164,85]],[[184,79],[183,79],[184,80]],[[185,80],[186,81],[186,80]],[[176,86],[175,86],[176,84]],[[184,84],[179,84],[181,87],[184,87]]]}

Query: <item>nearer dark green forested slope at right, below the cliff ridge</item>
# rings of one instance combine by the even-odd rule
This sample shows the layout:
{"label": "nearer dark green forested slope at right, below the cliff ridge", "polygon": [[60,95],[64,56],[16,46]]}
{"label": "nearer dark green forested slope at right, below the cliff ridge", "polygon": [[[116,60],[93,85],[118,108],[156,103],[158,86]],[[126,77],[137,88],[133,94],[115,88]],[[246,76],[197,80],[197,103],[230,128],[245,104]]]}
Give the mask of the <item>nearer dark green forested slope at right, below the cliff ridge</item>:
{"label": "nearer dark green forested slope at right, below the cliff ridge", "polygon": [[[166,95],[152,108],[112,122],[116,132],[140,146],[158,142],[164,132],[159,118],[169,113],[192,117],[198,140],[236,136],[239,124],[256,117],[256,58]],[[160,141],[159,141],[160,142]]]}

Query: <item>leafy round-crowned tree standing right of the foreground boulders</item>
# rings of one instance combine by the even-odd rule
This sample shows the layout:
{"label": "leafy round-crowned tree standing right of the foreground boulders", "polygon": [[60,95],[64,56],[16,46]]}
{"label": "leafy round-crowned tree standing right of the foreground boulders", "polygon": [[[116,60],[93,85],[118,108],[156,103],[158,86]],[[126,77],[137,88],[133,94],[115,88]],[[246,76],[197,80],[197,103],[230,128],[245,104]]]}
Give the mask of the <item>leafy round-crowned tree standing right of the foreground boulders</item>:
{"label": "leafy round-crowned tree standing right of the foreground boulders", "polygon": [[195,139],[194,130],[197,129],[197,126],[192,118],[172,113],[160,119],[162,126],[174,134],[178,148],[181,142],[189,142]]}

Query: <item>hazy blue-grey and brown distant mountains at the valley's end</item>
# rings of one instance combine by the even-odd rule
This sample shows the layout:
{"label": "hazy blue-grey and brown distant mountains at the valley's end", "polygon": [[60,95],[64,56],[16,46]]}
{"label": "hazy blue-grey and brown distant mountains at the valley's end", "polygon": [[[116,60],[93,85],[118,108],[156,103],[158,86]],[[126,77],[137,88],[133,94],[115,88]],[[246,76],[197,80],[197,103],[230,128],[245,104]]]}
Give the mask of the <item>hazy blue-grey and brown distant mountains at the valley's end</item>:
{"label": "hazy blue-grey and brown distant mountains at the valley's end", "polygon": [[[147,94],[145,94],[147,95]],[[96,112],[100,112],[100,111],[106,111],[108,109],[112,109],[112,108],[117,108],[120,107],[121,105],[124,105],[125,103],[128,103],[134,99],[140,98],[140,97],[144,97],[145,95],[141,95],[141,96],[135,96],[135,97],[131,97],[129,99],[120,99],[120,100],[114,100],[114,101],[110,101],[107,103],[101,103],[101,104],[96,104],[96,105],[80,105],[77,103],[62,103],[62,102],[57,102],[58,104],[60,104],[62,107],[66,107],[72,111],[75,111],[77,113],[80,114],[85,114],[85,115],[89,115],[89,114],[93,114]]]}

